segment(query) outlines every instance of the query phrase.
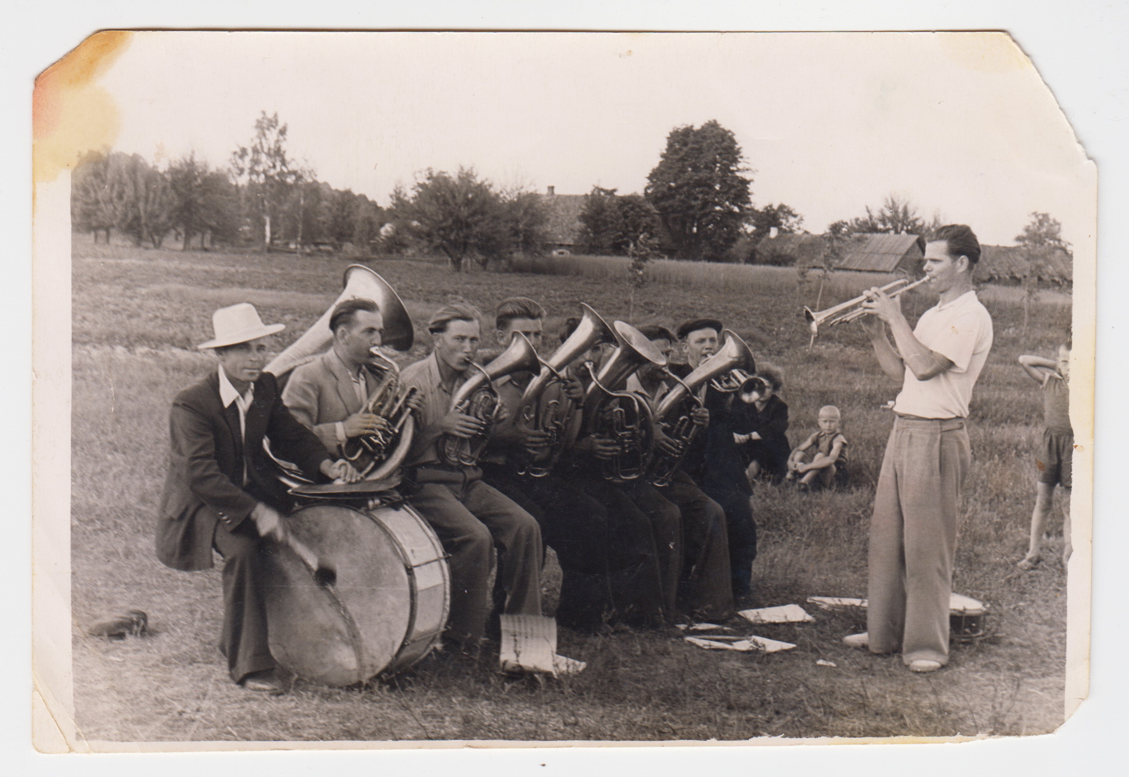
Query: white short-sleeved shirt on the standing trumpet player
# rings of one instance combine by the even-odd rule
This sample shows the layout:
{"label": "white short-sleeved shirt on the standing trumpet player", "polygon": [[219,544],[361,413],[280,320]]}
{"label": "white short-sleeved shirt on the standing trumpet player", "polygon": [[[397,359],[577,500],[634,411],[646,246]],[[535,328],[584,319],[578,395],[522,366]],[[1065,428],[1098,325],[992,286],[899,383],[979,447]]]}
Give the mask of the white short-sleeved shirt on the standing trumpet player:
{"label": "white short-sleeved shirt on the standing trumpet player", "polygon": [[972,386],[991,350],[991,316],[968,291],[945,305],[926,311],[913,329],[922,346],[953,363],[951,369],[918,381],[909,367],[894,411],[921,418],[965,418]]}

